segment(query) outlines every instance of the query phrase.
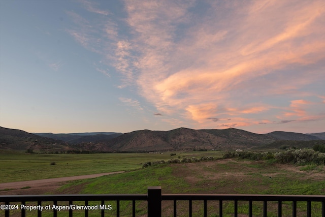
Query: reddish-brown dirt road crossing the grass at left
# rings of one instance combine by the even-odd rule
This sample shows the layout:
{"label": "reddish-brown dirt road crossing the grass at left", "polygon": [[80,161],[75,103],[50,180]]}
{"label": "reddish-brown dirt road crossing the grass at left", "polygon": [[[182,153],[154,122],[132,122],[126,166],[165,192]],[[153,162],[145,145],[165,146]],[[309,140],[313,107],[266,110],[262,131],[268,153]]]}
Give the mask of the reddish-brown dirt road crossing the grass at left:
{"label": "reddish-brown dirt road crossing the grass at left", "polygon": [[[95,178],[123,172],[125,171],[0,183],[0,195],[44,194],[45,192],[57,189],[67,181]],[[21,189],[25,187],[30,188]]]}

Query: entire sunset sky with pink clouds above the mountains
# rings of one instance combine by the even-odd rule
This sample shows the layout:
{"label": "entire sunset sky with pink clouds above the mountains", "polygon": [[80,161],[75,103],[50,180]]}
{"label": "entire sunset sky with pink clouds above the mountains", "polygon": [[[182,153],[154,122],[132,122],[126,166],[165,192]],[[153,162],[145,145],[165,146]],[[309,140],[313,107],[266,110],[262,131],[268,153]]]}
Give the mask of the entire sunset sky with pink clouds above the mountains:
{"label": "entire sunset sky with pink clouds above the mountains", "polygon": [[325,132],[325,2],[1,0],[0,126]]}

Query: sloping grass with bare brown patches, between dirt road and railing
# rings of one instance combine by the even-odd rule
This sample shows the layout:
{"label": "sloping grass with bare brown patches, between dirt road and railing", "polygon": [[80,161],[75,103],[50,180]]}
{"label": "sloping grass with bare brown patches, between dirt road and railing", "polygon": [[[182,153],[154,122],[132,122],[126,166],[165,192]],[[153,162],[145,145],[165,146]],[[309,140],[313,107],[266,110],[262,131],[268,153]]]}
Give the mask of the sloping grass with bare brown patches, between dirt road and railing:
{"label": "sloping grass with bare brown patches, between dirt road and railing", "polygon": [[[217,160],[211,162],[171,164],[148,167],[123,174],[72,181],[55,193],[64,194],[145,194],[148,186],[159,185],[163,194],[294,194],[325,195],[323,166],[310,170],[273,161]],[[95,202],[94,202],[95,204]],[[114,207],[114,202],[112,203]],[[248,203],[239,202],[239,214],[247,216]],[[263,215],[263,203],[253,202],[254,216]],[[188,216],[188,202],[178,202],[179,216]],[[298,203],[299,216],[305,216],[306,203]],[[121,216],[129,216],[131,203],[121,202]],[[217,216],[218,202],[209,202],[208,216]],[[268,216],[277,216],[277,204],[269,202]],[[283,216],[291,216],[291,203],[283,202]],[[203,215],[203,202],[193,201],[193,216]],[[321,216],[321,204],[312,203],[312,216]],[[163,202],[163,216],[172,216],[172,203]],[[224,216],[233,216],[234,203],[224,202]],[[108,211],[114,215],[113,211]],[[144,203],[137,203],[137,215],[146,213]],[[81,214],[82,216],[82,214]],[[96,213],[93,213],[96,216]],[[110,216],[110,215],[109,215]]]}

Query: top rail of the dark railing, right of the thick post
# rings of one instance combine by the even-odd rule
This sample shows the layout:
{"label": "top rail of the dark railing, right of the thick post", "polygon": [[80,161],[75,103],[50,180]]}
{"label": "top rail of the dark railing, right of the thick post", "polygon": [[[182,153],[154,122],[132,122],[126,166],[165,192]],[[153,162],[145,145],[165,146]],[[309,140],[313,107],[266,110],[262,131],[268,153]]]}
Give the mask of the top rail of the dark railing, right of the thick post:
{"label": "top rail of the dark railing, right of the thick post", "polygon": [[325,201],[325,195],[162,194],[163,200]]}

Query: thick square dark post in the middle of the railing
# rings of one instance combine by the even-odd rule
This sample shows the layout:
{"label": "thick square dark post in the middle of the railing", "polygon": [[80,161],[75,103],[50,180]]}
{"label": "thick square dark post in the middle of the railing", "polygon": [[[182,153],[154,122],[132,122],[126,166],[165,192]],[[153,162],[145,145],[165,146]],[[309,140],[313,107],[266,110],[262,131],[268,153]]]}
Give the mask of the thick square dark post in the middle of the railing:
{"label": "thick square dark post in the middle of the railing", "polygon": [[161,187],[148,187],[148,217],[161,217]]}

